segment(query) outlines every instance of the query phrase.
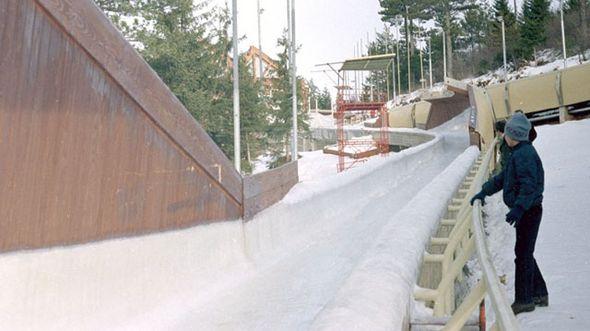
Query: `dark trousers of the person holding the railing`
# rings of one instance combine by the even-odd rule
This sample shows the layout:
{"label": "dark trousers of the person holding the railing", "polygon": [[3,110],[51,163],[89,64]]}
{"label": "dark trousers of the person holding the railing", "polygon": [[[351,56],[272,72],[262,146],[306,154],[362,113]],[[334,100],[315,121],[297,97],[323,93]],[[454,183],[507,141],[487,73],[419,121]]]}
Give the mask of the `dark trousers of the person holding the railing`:
{"label": "dark trousers of the person holding the railing", "polygon": [[533,297],[547,295],[545,280],[533,256],[542,215],[543,207],[534,206],[516,222],[514,301],[518,303],[532,303]]}

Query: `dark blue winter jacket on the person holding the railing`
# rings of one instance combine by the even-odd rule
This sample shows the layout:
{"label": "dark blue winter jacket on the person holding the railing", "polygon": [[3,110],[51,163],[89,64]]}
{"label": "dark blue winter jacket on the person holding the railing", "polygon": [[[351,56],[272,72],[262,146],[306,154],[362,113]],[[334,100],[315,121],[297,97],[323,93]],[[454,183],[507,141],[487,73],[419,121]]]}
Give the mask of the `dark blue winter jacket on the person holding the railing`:
{"label": "dark blue winter jacket on the person holding the railing", "polygon": [[488,180],[482,188],[485,195],[504,190],[504,203],[509,208],[528,210],[543,202],[545,172],[537,151],[530,142],[520,142],[502,171]]}

